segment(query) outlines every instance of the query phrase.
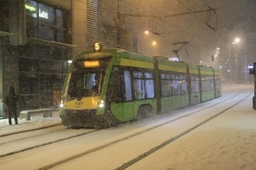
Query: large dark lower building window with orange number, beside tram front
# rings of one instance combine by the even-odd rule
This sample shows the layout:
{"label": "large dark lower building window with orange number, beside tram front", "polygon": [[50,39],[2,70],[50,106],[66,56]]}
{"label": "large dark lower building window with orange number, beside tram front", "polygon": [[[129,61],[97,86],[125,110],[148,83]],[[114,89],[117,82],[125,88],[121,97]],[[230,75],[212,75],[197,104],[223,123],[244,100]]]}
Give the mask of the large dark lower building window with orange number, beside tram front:
{"label": "large dark lower building window with orange number, beside tram front", "polygon": [[18,54],[20,109],[59,105],[70,50],[27,44]]}

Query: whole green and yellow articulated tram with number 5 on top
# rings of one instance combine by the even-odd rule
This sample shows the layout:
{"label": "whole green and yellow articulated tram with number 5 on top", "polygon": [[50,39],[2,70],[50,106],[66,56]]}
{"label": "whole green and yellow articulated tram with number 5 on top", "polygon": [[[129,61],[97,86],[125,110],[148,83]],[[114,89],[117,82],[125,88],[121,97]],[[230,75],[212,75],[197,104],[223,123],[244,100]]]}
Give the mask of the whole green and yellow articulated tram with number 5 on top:
{"label": "whole green and yellow articulated tram with number 5 on top", "polygon": [[218,70],[103,48],[79,54],[68,71],[60,116],[71,127],[110,127],[221,95]]}

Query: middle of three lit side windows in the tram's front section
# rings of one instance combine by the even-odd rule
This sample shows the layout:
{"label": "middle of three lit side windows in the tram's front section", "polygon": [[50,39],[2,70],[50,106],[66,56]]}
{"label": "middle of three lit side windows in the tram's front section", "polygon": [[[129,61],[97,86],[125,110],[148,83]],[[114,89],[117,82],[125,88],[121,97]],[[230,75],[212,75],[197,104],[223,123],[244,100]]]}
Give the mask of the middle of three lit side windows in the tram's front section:
{"label": "middle of three lit side windows in the tram's front section", "polygon": [[145,99],[145,87],[143,80],[143,72],[142,71],[134,71],[134,90],[136,99]]}

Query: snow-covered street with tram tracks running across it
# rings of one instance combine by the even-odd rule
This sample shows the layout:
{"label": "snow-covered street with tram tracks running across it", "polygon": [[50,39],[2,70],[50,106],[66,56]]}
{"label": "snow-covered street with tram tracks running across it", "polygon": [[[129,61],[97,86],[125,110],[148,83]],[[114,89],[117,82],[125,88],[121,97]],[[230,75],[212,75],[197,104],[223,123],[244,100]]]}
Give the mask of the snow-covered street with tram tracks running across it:
{"label": "snow-covered street with tram tracks running across it", "polygon": [[252,97],[252,85],[233,84],[221,98],[99,131],[59,126],[57,112],[1,120],[0,169],[256,169]]}

